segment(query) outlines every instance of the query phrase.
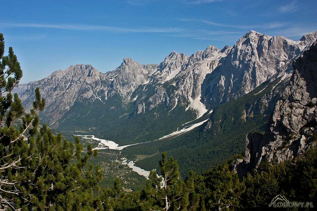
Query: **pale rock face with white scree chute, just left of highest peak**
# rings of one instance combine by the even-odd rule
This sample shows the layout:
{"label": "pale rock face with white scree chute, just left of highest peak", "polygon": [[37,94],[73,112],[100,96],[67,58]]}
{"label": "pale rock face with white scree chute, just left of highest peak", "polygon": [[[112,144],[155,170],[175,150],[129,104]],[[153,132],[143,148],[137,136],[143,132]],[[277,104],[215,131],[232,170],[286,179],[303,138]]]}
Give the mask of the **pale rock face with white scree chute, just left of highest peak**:
{"label": "pale rock face with white scree chute, just left of highest peak", "polygon": [[[190,57],[172,52],[159,65],[159,71],[152,76],[154,79],[148,86],[155,87],[154,92],[148,98],[146,96],[139,97],[136,112],[141,113],[160,103],[165,103],[166,106],[170,106],[170,111],[177,105],[183,105],[186,110],[194,110],[197,116],[203,115],[207,109],[200,102],[201,84],[206,74],[217,67],[219,60],[225,57],[229,50],[228,46],[222,50],[215,46],[208,46],[205,51],[197,51]],[[159,83],[155,83],[158,81]],[[171,85],[174,88],[171,89],[172,91],[167,91],[166,87]]]}

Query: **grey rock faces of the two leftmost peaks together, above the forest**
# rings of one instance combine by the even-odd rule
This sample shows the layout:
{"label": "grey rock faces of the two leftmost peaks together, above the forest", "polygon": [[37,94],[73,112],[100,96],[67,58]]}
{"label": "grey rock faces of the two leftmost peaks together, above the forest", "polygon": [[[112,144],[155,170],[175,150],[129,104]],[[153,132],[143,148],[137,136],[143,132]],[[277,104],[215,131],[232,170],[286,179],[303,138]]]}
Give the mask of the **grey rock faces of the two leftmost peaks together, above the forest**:
{"label": "grey rock faces of the two leftmost peaks together, above the forest", "polygon": [[157,65],[140,65],[129,58],[125,58],[116,70],[107,73],[101,73],[91,65],[72,65],[40,81],[22,84],[14,91],[20,93],[26,110],[29,110],[34,100],[34,90],[40,87],[42,96],[47,99],[43,112],[45,121],[57,126],[55,122],[76,101],[87,103],[97,100],[105,103],[114,94],[128,101],[136,87],[146,83],[156,68]]}

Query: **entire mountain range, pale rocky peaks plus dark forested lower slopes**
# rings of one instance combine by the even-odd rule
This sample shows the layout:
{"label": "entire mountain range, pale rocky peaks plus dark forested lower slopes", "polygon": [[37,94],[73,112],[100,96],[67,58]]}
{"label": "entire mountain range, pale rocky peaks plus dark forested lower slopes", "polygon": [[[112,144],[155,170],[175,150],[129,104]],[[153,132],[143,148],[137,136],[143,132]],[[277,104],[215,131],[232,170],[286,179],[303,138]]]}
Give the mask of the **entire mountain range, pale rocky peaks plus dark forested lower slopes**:
{"label": "entire mountain range, pale rocky peaks plus dark forested lower slopes", "polygon": [[[106,73],[72,65],[14,91],[29,110],[39,87],[47,102],[41,121],[59,131],[119,145],[149,142],[123,151],[153,155],[137,163],[144,169],[157,163],[155,153],[169,151],[183,172],[204,170],[242,153],[246,134],[268,133],[294,78],[292,63],[316,39],[317,31],[297,41],[250,31],[233,47],[208,46],[191,56],[173,51],[159,65],[125,58]],[[175,133],[186,128],[192,130]],[[172,141],[154,141],[162,137]]]}

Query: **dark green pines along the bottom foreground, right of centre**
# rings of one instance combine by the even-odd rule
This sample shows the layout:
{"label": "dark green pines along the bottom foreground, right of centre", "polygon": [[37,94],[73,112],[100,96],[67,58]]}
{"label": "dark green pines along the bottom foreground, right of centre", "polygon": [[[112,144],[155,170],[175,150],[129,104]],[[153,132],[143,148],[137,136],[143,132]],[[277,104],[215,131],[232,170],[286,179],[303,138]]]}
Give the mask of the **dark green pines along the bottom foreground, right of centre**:
{"label": "dark green pines along the bottom foreground, right of centre", "polygon": [[[242,180],[230,171],[236,158],[198,174],[190,171],[185,180],[179,178],[178,164],[162,154],[160,174],[151,171],[142,191],[125,193],[119,179],[104,195],[107,210],[268,210],[278,194],[291,202],[317,201],[317,148],[302,156],[279,164],[263,162],[259,169]],[[167,181],[167,182],[165,182]],[[118,190],[120,191],[118,192]],[[103,192],[105,193],[105,192]],[[167,200],[166,200],[167,199]],[[106,206],[105,206],[106,207]]]}

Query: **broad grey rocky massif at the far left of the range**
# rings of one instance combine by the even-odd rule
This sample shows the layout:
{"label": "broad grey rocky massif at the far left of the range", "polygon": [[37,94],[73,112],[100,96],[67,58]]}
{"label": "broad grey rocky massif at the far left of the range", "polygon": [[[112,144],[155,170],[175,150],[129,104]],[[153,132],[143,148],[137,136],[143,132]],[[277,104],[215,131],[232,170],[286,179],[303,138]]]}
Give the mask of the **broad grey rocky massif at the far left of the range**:
{"label": "broad grey rocky massif at the far left of the range", "polygon": [[34,90],[40,87],[42,97],[46,98],[47,122],[53,123],[73,106],[75,100],[100,99],[98,91],[110,84],[102,84],[101,75],[102,73],[91,65],[70,66],[64,71],[55,71],[40,81],[24,85],[26,90],[20,98],[26,110],[29,110],[34,100]]}

